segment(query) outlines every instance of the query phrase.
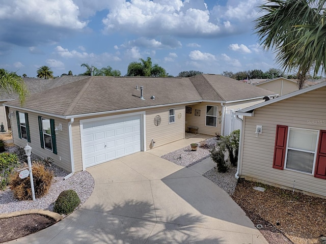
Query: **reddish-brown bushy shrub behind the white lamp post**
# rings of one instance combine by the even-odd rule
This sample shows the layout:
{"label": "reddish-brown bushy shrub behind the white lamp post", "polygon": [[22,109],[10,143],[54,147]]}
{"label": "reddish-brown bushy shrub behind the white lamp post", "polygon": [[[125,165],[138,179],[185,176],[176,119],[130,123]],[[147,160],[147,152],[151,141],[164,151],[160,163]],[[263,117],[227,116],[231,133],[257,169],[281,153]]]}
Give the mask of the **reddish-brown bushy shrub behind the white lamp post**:
{"label": "reddish-brown bushy shrub behind the white lamp post", "polygon": [[[27,167],[27,165],[24,165],[24,168],[25,167]],[[32,172],[35,197],[40,198],[48,193],[53,178],[53,172],[46,169],[41,161],[33,162]],[[19,173],[15,172],[10,176],[9,186],[18,200],[32,200],[30,176],[21,179],[19,178]]]}

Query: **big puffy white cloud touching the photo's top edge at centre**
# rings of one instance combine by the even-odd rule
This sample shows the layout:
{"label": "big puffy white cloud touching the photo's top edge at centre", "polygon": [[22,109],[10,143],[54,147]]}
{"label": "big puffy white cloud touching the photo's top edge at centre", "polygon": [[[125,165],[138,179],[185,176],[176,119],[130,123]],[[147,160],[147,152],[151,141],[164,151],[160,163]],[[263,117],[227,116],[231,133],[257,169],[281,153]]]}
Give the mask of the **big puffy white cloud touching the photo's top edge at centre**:
{"label": "big puffy white cloud touching the photo's top edge at centre", "polygon": [[[120,1],[122,2],[122,1]],[[216,35],[220,27],[210,22],[205,5],[193,8],[190,1],[134,0],[116,5],[103,19],[105,32],[127,31],[144,36]]]}

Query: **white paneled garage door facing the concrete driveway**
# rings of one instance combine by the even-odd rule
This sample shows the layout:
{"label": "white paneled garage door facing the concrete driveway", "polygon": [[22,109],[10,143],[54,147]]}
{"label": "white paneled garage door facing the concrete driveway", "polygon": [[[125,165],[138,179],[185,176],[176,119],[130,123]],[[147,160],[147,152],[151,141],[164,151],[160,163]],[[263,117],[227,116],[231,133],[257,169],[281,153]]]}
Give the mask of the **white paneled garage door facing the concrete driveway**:
{"label": "white paneled garage door facing the concrete driveway", "polygon": [[141,115],[83,123],[83,161],[90,167],[141,150]]}

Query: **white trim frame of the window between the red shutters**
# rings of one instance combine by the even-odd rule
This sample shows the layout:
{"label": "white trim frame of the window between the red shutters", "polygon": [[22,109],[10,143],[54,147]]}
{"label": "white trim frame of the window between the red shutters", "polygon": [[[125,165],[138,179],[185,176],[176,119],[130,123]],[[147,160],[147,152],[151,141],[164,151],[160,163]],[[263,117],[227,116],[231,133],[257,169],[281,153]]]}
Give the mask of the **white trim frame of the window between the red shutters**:
{"label": "white trim frame of the window between the red shutters", "polygon": [[[289,147],[289,136],[290,136],[290,130],[291,129],[298,129],[298,130],[305,130],[305,131],[315,131],[317,132],[317,139],[316,139],[316,146],[315,146],[315,151],[309,151],[309,150],[303,150],[303,149],[297,149],[297,148],[293,148],[293,147]],[[285,148],[285,159],[284,159],[284,169],[286,170],[291,170],[294,172],[300,172],[300,173],[304,173],[304,174],[309,174],[309,175],[314,175],[315,174],[315,169],[316,169],[316,159],[317,159],[317,150],[318,150],[318,143],[319,143],[319,136],[320,136],[320,130],[314,130],[314,129],[305,129],[305,128],[297,128],[297,127],[288,127],[287,130],[287,137],[286,137],[286,148]],[[302,170],[297,170],[297,169],[290,169],[290,168],[286,168],[286,164],[287,164],[287,155],[288,155],[288,150],[295,150],[295,151],[303,151],[304,153],[310,153],[310,154],[314,154],[314,160],[313,160],[313,164],[312,164],[312,170],[311,173],[310,172],[306,172],[306,171],[302,171]]]}

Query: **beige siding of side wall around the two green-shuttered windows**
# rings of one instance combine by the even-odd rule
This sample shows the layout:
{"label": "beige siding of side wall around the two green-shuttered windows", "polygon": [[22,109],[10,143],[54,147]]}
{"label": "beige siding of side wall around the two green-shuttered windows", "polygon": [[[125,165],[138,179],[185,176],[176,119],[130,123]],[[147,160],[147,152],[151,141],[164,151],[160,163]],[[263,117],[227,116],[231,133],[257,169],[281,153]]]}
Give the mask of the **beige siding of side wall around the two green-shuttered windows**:
{"label": "beige siding of side wall around the two green-shuttered windows", "polygon": [[[58,152],[58,154],[56,155],[53,154],[52,151],[41,147],[39,124],[38,124],[39,114],[28,112],[30,135],[31,135],[31,142],[28,142],[18,137],[16,110],[10,110],[10,111],[14,111],[14,117],[12,117],[12,123],[11,123],[14,144],[20,147],[25,147],[26,143],[29,143],[29,145],[32,147],[32,154],[35,154],[41,158],[49,157],[53,159],[55,165],[67,170],[68,172],[71,172],[67,120],[56,118],[56,117],[44,116],[44,118],[55,119],[56,126],[59,126],[59,123],[62,124],[62,131],[59,131],[59,133],[56,135],[57,152]],[[26,112],[24,110],[18,110],[18,111]]]}

